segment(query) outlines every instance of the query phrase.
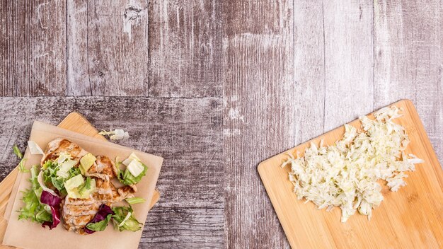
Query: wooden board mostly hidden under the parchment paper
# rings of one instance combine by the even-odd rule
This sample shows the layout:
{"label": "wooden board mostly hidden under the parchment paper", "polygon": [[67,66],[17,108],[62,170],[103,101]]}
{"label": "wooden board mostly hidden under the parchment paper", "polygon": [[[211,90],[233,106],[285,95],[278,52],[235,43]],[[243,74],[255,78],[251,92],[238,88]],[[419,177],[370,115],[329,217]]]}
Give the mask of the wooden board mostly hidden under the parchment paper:
{"label": "wooden board mostly hidden under the parchment paper", "polygon": [[[67,117],[64,118],[62,122],[60,122],[58,127],[62,127],[64,129],[69,129],[73,132],[78,132],[81,134],[86,134],[91,137],[96,137],[98,139],[106,140],[105,137],[98,134],[98,130],[91,125],[86,118],[81,115],[79,112],[71,112]],[[18,174],[18,168],[9,173],[6,178],[0,183],[0,241],[3,241],[3,237],[6,231],[6,226],[8,225],[8,221],[4,219],[4,213],[6,210],[6,206],[8,204],[9,196],[11,195],[11,190],[13,188],[14,183],[16,182]],[[158,202],[160,199],[159,191],[155,190],[154,195],[151,200],[151,207],[154,207],[154,204]],[[0,248],[11,248],[6,245],[0,245]]]}

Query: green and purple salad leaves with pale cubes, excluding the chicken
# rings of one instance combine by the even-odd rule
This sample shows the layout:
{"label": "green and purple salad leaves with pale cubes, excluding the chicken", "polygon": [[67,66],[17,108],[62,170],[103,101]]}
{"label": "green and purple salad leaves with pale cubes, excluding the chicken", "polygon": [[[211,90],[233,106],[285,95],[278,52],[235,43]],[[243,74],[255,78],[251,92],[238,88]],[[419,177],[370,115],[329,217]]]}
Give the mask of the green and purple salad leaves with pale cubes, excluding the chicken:
{"label": "green and purple salad leaves with pale cubes, excluding the chicken", "polygon": [[[28,142],[31,154],[45,153],[33,141]],[[63,212],[64,199],[90,199],[97,191],[96,178],[88,176],[86,173],[95,165],[96,157],[92,154],[86,154],[79,161],[73,160],[68,153],[59,153],[55,160],[47,160],[41,165],[31,166],[25,169],[25,158],[17,146],[13,147],[14,153],[21,158],[19,170],[22,173],[30,173],[30,188],[23,191],[22,201],[24,206],[18,210],[18,219],[42,224],[42,227],[48,226],[50,229],[57,227],[61,220]],[[120,165],[125,164],[124,170]],[[117,180],[123,185],[135,185],[146,175],[148,167],[140,159],[131,154],[125,161],[118,162]],[[98,179],[98,178],[97,178]],[[109,202],[100,204],[98,212],[84,226],[86,233],[103,231],[110,221],[118,231],[138,231],[142,228],[142,223],[134,217],[132,204],[145,202],[141,197],[127,197],[129,204],[122,207],[110,207]]]}

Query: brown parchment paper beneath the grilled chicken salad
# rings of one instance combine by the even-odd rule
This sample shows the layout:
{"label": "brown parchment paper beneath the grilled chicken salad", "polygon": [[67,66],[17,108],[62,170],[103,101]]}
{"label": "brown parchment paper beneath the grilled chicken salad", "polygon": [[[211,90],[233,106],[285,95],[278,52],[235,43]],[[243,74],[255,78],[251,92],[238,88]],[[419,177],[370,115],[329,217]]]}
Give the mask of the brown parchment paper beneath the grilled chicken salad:
{"label": "brown parchment paper beneath the grilled chicken salad", "polygon": [[[159,178],[163,158],[37,121],[33,124],[29,140],[35,141],[43,150],[45,150],[47,143],[59,137],[69,139],[70,141],[79,144],[79,146],[95,156],[103,155],[108,156],[109,158],[115,158],[118,156],[119,158],[124,159],[132,152],[139,156],[149,169],[140,183],[137,184],[138,191],[135,193],[135,196],[143,197],[146,199],[146,202],[142,204],[134,204],[132,205],[132,208],[134,209],[134,216],[144,224],[149,211],[149,203],[152,199],[157,179]],[[28,161],[25,163],[26,168],[30,168],[33,164],[40,163],[40,159],[42,158],[41,155],[30,155],[28,151],[26,152],[25,156],[28,158]],[[23,207],[23,202],[21,201],[22,193],[20,191],[30,187],[28,181],[29,178],[30,173],[18,173],[16,184],[14,185],[13,192],[9,199],[9,203],[12,204],[8,205],[9,210],[6,210],[6,214],[9,214],[10,216],[3,240],[4,245],[12,245],[18,248],[64,249],[138,247],[142,236],[142,230],[137,232],[119,232],[114,230],[113,224],[109,224],[105,231],[82,236],[74,232],[66,231],[62,224],[59,224],[57,228],[49,230],[49,228],[42,228],[40,224],[30,221],[18,221],[18,212],[16,211]],[[121,202],[121,204],[125,203]],[[115,206],[117,205],[119,204],[115,204]]]}

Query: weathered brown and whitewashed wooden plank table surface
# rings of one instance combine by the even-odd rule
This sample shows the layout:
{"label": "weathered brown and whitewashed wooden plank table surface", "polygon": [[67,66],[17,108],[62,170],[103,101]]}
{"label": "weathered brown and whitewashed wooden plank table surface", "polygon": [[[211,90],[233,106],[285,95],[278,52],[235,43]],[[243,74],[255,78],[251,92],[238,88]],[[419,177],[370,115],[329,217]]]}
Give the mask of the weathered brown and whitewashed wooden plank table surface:
{"label": "weathered brown and whitewashed wooden plank table surface", "polygon": [[128,1],[2,1],[0,180],[76,110],[165,158],[141,248],[287,248],[263,159],[410,98],[443,160],[442,1]]}

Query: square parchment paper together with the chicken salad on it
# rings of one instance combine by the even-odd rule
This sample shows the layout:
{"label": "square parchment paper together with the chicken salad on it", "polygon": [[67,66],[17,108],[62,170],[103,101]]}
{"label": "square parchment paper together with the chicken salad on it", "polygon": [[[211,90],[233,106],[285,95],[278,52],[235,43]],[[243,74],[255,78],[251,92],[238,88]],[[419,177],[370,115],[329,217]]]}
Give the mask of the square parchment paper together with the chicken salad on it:
{"label": "square parchment paper together with the chicken salad on it", "polygon": [[3,245],[138,247],[163,158],[37,121],[28,140]]}

